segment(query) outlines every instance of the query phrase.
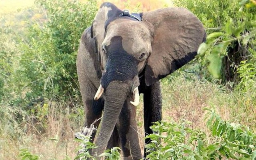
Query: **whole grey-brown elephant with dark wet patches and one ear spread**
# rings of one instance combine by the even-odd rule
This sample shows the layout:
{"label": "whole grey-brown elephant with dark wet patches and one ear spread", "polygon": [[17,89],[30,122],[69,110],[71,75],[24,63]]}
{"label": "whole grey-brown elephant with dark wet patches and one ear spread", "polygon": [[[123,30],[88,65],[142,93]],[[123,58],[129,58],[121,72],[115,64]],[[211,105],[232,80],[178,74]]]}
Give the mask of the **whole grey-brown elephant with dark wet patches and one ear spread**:
{"label": "whole grey-brown elephant with dark wet patches and one ear spread", "polygon": [[152,122],[162,119],[160,79],[194,59],[205,39],[201,21],[185,8],[130,14],[110,2],[100,6],[82,33],[76,61],[84,125],[102,117],[94,124],[100,127],[91,137],[98,146],[92,155],[99,158],[106,148],[120,146],[125,160],[143,158],[136,124],[139,94],[148,135]]}

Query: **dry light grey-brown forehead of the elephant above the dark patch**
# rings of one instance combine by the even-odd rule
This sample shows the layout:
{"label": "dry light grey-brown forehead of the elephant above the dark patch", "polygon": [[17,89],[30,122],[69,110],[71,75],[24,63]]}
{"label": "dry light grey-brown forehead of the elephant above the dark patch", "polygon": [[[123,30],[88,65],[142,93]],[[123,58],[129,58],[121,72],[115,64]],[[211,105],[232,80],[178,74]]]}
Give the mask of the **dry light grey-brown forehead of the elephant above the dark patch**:
{"label": "dry light grey-brown forehead of the elephant above the dark patch", "polygon": [[110,45],[112,37],[122,37],[122,47],[128,53],[138,53],[150,49],[150,32],[146,25],[139,21],[115,20],[108,25],[104,45]]}

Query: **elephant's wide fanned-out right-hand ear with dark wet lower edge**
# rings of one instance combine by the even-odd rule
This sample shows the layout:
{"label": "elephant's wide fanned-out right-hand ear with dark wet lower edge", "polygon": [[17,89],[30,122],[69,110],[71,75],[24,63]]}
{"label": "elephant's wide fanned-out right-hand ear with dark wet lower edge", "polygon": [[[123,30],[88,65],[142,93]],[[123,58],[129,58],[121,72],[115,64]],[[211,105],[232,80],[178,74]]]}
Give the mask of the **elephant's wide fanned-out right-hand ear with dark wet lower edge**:
{"label": "elephant's wide fanned-out right-hand ear with dark wet lower edge", "polygon": [[198,18],[185,8],[164,8],[142,14],[152,30],[152,52],[145,68],[149,86],[166,77],[197,54],[205,41],[205,30]]}

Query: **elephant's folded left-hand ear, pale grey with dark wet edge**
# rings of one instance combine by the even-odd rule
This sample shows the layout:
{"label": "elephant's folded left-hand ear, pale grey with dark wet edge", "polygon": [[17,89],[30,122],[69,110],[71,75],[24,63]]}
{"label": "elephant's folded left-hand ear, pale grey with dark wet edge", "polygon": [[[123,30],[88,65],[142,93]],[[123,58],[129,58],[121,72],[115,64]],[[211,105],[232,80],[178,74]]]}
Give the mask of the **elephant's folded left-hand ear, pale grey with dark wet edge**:
{"label": "elephant's folded left-hand ear, pale grey with dark wet edge", "polygon": [[114,4],[110,2],[102,3],[91,27],[91,37],[96,38],[98,44],[103,42],[108,24],[115,20],[121,13],[122,10],[118,9]]}

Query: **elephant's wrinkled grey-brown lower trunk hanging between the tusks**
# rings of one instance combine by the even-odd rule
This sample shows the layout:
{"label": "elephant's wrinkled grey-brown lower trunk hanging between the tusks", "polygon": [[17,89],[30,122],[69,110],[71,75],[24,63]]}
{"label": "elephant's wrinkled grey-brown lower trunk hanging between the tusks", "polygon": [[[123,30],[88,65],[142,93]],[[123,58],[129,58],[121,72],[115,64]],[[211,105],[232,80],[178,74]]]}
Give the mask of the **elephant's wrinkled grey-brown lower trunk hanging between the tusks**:
{"label": "elephant's wrinkled grey-brown lower trunk hanging between the tusks", "polygon": [[97,133],[95,144],[98,148],[92,152],[95,156],[102,154],[112,135],[118,116],[124,105],[124,102],[130,94],[131,85],[123,81],[112,81],[105,90],[104,113],[101,121],[101,127]]}

